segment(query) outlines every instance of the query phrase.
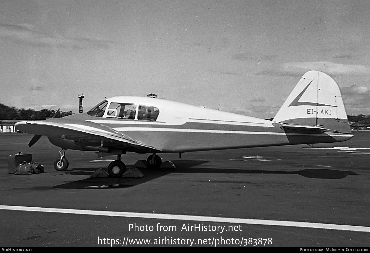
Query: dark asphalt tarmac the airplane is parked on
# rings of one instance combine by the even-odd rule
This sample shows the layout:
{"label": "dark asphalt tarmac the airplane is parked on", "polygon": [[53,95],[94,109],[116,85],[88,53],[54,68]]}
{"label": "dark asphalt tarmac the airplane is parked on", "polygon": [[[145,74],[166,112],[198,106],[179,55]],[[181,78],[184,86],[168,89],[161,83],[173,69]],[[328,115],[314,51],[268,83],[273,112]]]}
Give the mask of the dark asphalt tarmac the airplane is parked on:
{"label": "dark asphalt tarmac the airplane is parked on", "polygon": [[[0,245],[370,246],[370,131],[353,133],[314,147],[160,154],[177,168],[141,169],[141,179],[90,179],[115,157],[74,150],[57,172],[59,148],[47,138],[29,148],[31,135],[2,133]],[[45,173],[8,174],[18,152]],[[147,157],[122,161],[130,168]]]}

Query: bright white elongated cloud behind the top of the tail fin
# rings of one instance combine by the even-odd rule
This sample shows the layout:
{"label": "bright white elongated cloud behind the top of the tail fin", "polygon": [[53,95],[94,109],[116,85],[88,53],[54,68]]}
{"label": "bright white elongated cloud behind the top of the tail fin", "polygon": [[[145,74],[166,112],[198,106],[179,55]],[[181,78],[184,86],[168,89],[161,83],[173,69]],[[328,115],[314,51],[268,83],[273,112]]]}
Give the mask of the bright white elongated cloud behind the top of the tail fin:
{"label": "bright white elongated cloud behind the top of the tail fin", "polygon": [[309,70],[323,71],[330,76],[363,76],[370,75],[370,67],[359,64],[338,64],[330,61],[290,62],[277,69],[262,70],[257,75],[295,76],[301,77]]}

